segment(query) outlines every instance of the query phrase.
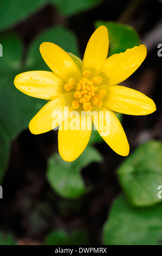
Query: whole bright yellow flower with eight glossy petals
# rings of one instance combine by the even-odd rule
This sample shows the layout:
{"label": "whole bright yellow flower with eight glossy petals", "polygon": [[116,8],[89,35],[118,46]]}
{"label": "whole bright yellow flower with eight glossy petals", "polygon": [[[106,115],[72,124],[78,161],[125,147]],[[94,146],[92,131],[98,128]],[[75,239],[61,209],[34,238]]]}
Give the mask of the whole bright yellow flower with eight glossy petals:
{"label": "whole bright yellow flower with eight glossy petals", "polygon": [[[156,107],[144,94],[116,84],[126,80],[139,68],[146,57],[146,47],[135,46],[107,58],[108,32],[105,26],[100,26],[90,37],[83,60],[50,42],[43,42],[40,52],[53,72],[24,72],[17,75],[14,81],[21,92],[49,101],[30,121],[31,133],[40,134],[54,129],[53,112],[63,113],[65,106],[69,112],[102,111],[103,119],[109,111],[109,120],[105,118],[104,121],[110,132],[103,139],[117,154],[127,156],[127,137],[114,111],[146,115],[154,112]],[[96,119],[92,121],[98,127]],[[61,119],[57,125],[63,127]],[[100,127],[98,132],[101,133]],[[77,159],[86,148],[90,133],[88,129],[59,129],[59,153],[62,159],[69,162]]]}

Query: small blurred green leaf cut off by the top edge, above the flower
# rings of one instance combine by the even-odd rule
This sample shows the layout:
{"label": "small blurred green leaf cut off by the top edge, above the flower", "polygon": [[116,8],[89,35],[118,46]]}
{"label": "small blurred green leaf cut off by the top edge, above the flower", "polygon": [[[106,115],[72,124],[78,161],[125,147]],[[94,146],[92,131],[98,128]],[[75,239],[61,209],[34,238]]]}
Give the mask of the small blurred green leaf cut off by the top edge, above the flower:
{"label": "small blurred green leaf cut off by the top edge, above the flower", "polygon": [[71,16],[86,11],[103,2],[103,0],[51,0],[64,16]]}

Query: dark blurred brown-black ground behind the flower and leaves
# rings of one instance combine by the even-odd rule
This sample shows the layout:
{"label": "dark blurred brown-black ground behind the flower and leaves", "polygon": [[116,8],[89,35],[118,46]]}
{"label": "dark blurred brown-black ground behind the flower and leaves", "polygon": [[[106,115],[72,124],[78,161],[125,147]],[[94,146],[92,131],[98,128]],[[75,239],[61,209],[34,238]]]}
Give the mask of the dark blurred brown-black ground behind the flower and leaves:
{"label": "dark blurred brown-black ground behind the flower and leaves", "polygon": [[[134,2],[134,5],[130,3]],[[124,126],[131,152],[149,139],[161,141],[161,62],[157,45],[162,43],[162,4],[159,1],[103,1],[98,7],[73,17],[63,17],[50,4],[28,17],[11,31],[21,36],[25,47],[44,29],[64,25],[74,31],[83,53],[96,20],[118,21],[133,26],[147,46],[147,58],[142,68],[123,85],[139,90],[154,100],[157,111],[135,117],[124,115]],[[160,31],[160,33],[159,33]],[[150,38],[150,35],[152,37]],[[57,131],[31,135],[25,130],[13,142],[8,170],[3,180],[4,198],[0,205],[0,229],[10,231],[20,244],[43,243],[54,229],[73,231],[85,229],[89,243],[102,243],[102,227],[120,187],[115,175],[123,157],[115,154],[103,142],[95,147],[104,157],[102,164],[92,163],[82,170],[86,185],[94,190],[80,199],[67,200],[51,190],[46,180],[48,158],[58,151]]]}

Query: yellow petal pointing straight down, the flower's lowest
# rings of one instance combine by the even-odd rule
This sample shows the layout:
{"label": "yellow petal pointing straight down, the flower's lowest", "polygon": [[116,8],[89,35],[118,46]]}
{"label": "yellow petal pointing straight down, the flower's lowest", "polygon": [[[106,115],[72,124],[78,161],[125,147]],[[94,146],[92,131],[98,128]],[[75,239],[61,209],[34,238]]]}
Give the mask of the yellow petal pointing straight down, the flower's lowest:
{"label": "yellow petal pointing straight down, the flower's lowest", "polygon": [[[86,119],[88,126],[84,127]],[[66,121],[68,121],[69,125],[64,124]],[[66,119],[66,121],[64,121],[59,128],[59,153],[64,161],[72,162],[81,155],[88,144],[92,121],[89,117],[82,117],[81,119],[81,115],[76,115],[75,117],[71,116],[71,118]],[[64,125],[67,128],[65,128]]]}

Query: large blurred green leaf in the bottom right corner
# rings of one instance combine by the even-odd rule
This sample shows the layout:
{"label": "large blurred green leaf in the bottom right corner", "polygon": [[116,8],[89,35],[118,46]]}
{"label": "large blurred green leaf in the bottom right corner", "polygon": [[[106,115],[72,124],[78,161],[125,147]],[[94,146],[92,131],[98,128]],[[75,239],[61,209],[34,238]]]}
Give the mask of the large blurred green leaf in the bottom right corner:
{"label": "large blurred green leaf in the bottom right corner", "polygon": [[103,228],[105,245],[162,245],[162,205],[131,208],[119,196]]}

